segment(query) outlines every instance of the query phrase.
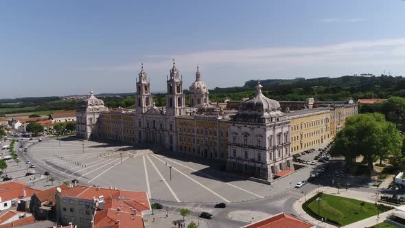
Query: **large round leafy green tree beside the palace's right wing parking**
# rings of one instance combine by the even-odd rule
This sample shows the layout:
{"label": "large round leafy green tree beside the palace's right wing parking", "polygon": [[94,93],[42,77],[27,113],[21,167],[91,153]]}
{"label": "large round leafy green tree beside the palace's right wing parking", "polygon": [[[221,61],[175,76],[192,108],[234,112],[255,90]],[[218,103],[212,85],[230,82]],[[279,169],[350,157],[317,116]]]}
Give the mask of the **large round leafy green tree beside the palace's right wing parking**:
{"label": "large round leafy green tree beside the palace's right wing parking", "polygon": [[363,156],[373,172],[373,156],[380,160],[399,155],[402,137],[392,123],[386,122],[380,113],[358,114],[347,118],[345,127],[340,130],[330,149],[331,155],[343,155],[348,162]]}

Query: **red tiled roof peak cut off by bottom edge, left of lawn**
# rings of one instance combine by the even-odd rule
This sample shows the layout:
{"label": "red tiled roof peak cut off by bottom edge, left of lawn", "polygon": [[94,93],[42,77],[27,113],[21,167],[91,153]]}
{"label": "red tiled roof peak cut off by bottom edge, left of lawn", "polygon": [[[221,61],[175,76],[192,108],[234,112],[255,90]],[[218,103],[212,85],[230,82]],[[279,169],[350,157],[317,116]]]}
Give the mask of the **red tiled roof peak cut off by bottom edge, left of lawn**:
{"label": "red tiled roof peak cut off by bottom edge, left of lawn", "polygon": [[244,226],[245,228],[311,228],[315,227],[311,223],[307,223],[290,214],[281,213],[264,220]]}

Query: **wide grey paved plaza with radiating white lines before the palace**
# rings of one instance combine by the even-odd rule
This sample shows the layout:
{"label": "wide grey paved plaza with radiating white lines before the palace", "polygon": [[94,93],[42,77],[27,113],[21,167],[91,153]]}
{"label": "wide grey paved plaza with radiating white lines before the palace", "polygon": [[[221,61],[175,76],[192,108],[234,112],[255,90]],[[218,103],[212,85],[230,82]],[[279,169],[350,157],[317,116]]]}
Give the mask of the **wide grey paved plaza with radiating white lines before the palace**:
{"label": "wide grey paved plaza with radiating white lines before the palace", "polygon": [[303,168],[273,185],[266,185],[220,172],[209,163],[167,155],[159,149],[135,149],[73,138],[47,138],[28,146],[29,156],[25,159],[57,173],[58,181],[78,179],[82,184],[143,191],[152,199],[173,202],[251,201],[290,190],[310,173],[308,168]]}

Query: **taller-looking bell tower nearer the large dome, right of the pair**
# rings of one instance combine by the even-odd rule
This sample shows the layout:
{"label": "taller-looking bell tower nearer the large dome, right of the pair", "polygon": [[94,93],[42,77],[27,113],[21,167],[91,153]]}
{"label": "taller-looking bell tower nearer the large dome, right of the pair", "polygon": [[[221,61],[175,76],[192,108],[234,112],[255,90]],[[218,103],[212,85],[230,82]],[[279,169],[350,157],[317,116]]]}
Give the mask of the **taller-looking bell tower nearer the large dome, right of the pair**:
{"label": "taller-looking bell tower nearer the large dome, right of the pair", "polygon": [[185,95],[183,94],[183,80],[178,74],[173,59],[170,78],[167,78],[166,113],[167,115],[185,115]]}

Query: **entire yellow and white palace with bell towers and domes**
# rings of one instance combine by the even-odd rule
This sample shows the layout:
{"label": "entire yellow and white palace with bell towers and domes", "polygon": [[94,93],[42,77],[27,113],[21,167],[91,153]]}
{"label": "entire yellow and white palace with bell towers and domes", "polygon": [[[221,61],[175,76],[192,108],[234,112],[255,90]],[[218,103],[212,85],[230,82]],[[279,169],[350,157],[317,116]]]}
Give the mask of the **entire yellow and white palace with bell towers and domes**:
{"label": "entire yellow and white palace with bell towers and domes", "polygon": [[[226,163],[227,170],[272,181],[283,170],[294,170],[292,154],[331,141],[357,113],[356,104],[281,111],[280,103],[266,98],[258,82],[255,96],[235,109],[209,102],[207,84],[197,67],[185,106],[183,78],[173,63],[167,76],[165,106],[153,102],[150,82],[141,67],[135,109],[108,109],[93,91],[77,111],[80,139],[109,139],[124,144],[159,144],[167,150]],[[292,102],[291,104],[294,104]],[[291,107],[294,109],[294,107]]]}

